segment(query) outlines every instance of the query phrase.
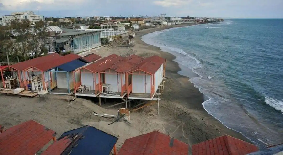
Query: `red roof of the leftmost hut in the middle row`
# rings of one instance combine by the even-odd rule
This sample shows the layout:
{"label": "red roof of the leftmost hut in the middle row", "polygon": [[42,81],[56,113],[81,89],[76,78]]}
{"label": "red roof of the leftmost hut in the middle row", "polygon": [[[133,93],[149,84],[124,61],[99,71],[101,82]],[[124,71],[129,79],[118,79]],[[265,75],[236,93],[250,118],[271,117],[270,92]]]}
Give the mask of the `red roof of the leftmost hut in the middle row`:
{"label": "red roof of the leftmost hut in the middle row", "polygon": [[23,71],[24,69],[26,69],[28,67],[35,66],[35,65],[41,64],[43,62],[50,62],[50,61],[57,59],[59,57],[61,57],[61,55],[59,55],[57,53],[52,53],[52,54],[48,54],[48,55],[45,55],[45,56],[40,56],[38,58],[33,58],[31,60],[12,64],[10,66],[15,68],[15,69],[18,69],[19,71]]}

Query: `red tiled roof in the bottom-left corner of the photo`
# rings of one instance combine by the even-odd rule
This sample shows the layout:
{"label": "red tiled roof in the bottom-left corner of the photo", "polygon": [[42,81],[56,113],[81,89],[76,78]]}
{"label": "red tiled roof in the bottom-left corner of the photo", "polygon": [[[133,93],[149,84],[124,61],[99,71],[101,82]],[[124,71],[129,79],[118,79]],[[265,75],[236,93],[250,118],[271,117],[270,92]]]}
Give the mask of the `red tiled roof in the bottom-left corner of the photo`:
{"label": "red tiled roof in the bottom-left corner of the photo", "polygon": [[35,154],[55,135],[56,132],[33,120],[26,121],[0,134],[0,154]]}

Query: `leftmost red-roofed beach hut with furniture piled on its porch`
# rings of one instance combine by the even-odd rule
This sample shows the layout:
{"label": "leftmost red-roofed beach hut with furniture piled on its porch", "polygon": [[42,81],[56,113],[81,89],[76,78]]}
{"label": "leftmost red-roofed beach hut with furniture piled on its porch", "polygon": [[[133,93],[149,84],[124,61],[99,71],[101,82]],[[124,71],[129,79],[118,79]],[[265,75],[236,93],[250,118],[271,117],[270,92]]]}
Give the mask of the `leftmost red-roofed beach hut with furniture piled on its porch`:
{"label": "leftmost red-roofed beach hut with furniture piled on its porch", "polygon": [[[28,80],[29,77],[28,71],[24,71],[26,68],[31,66],[36,66],[44,62],[50,62],[60,57],[62,56],[57,53],[52,53],[45,56],[40,56],[38,58],[33,58],[31,60],[2,67],[0,69],[0,72],[3,80],[3,87],[7,89],[14,87],[25,88],[25,82]],[[10,75],[4,77],[3,75],[4,72],[10,72]]]}

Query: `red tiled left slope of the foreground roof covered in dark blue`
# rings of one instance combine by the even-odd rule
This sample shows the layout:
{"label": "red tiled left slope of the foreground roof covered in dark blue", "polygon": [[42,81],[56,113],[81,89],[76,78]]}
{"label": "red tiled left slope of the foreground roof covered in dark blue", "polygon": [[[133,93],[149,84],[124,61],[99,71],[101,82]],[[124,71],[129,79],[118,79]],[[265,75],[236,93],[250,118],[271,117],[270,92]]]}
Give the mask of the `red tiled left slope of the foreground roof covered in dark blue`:
{"label": "red tiled left slope of the foreground roof covered in dark blue", "polygon": [[72,139],[63,137],[50,145],[41,155],[61,155],[61,153],[70,145]]}

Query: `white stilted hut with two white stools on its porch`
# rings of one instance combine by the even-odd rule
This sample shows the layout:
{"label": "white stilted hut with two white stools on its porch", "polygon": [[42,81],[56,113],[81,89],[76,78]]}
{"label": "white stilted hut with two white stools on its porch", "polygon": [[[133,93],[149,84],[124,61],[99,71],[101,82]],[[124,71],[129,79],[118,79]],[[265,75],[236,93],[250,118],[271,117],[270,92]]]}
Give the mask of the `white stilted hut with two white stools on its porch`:
{"label": "white stilted hut with two white stools on its porch", "polygon": [[96,97],[99,95],[99,93],[102,92],[102,89],[105,88],[105,77],[99,73],[105,71],[122,58],[123,57],[116,54],[111,54],[73,71],[74,74],[80,73],[80,81],[74,83],[75,95],[89,97]]}

